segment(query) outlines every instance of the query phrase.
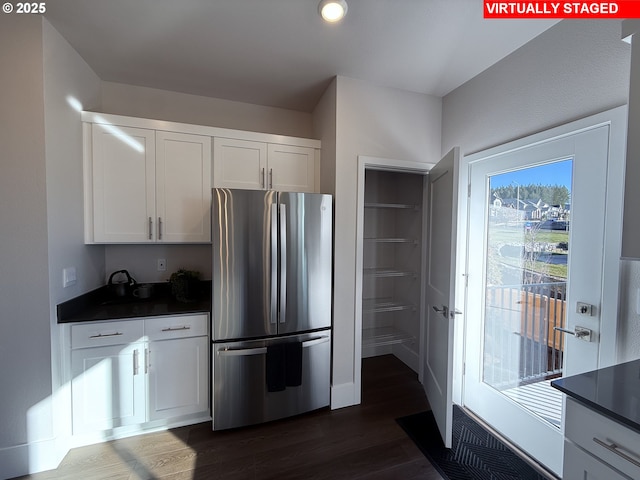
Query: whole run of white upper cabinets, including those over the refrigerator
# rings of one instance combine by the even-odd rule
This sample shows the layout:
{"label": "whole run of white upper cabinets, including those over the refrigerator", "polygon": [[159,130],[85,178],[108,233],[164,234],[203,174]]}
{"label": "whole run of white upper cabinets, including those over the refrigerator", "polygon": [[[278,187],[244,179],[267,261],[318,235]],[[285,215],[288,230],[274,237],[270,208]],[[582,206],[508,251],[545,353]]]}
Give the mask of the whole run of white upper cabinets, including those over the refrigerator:
{"label": "whole run of white upper cabinets, including those over the refrigerator", "polygon": [[94,112],[82,121],[86,243],[209,243],[212,185],[320,191],[319,140]]}

